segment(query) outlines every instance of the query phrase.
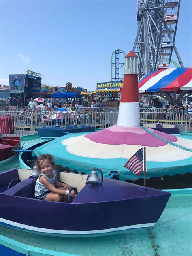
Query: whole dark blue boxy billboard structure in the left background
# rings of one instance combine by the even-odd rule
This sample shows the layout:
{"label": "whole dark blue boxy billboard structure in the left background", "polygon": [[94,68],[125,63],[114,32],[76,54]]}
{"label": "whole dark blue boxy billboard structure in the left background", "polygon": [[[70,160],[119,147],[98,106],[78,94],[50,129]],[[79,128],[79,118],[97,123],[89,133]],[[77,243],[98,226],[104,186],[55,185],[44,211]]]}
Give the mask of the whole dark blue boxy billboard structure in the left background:
{"label": "whole dark blue boxy billboard structure in the left background", "polygon": [[9,75],[10,96],[17,99],[19,105],[25,105],[30,98],[40,96],[41,75],[31,70],[27,74]]}

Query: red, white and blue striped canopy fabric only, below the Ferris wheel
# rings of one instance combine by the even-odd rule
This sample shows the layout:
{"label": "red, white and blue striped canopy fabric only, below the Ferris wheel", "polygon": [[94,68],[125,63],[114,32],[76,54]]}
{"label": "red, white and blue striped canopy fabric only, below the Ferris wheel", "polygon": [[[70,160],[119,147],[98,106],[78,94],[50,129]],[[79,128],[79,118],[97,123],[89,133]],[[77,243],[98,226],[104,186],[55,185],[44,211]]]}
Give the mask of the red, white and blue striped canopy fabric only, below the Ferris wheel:
{"label": "red, white and blue striped canopy fabric only, below the Ferris wheel", "polygon": [[186,90],[192,92],[192,68],[153,71],[139,81],[139,93]]}

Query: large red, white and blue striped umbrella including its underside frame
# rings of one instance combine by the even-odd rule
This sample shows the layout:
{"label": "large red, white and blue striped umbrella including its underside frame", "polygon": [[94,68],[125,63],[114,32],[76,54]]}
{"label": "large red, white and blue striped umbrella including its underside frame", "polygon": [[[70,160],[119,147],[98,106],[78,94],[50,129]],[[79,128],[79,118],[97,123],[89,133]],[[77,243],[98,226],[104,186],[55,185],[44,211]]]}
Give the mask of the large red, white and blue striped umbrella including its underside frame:
{"label": "large red, white and blue striped umbrella including its underside frame", "polygon": [[170,102],[183,100],[186,94],[192,94],[192,68],[168,68],[145,75],[139,81],[139,93],[146,92],[157,94]]}

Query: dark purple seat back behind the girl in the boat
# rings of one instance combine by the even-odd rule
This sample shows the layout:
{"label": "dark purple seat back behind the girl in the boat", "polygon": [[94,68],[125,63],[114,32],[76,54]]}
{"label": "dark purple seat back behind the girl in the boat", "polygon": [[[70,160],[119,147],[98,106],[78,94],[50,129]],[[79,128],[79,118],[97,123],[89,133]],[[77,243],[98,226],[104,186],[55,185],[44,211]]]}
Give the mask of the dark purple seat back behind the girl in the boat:
{"label": "dark purple seat back behind the girl in the boat", "polygon": [[19,183],[17,183],[12,188],[4,191],[3,194],[9,196],[22,196],[27,198],[34,198],[35,192],[35,184],[36,184],[36,177],[29,177]]}

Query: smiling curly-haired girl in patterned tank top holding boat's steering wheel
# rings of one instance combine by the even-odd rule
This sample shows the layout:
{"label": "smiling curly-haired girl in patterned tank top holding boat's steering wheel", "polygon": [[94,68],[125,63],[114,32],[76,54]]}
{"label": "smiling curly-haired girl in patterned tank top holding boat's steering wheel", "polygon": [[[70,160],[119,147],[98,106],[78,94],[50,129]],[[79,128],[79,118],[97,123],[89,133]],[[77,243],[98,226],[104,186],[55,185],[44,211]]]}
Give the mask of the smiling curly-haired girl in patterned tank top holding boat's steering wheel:
{"label": "smiling curly-haired girl in patterned tank top holding boat's steering wheel", "polygon": [[[53,156],[43,154],[37,158],[37,167],[41,171],[36,185],[35,198],[45,201],[68,202],[70,186],[57,181],[55,161]],[[75,192],[72,190],[70,196],[74,197]]]}

